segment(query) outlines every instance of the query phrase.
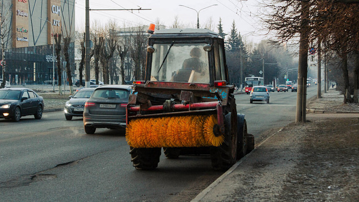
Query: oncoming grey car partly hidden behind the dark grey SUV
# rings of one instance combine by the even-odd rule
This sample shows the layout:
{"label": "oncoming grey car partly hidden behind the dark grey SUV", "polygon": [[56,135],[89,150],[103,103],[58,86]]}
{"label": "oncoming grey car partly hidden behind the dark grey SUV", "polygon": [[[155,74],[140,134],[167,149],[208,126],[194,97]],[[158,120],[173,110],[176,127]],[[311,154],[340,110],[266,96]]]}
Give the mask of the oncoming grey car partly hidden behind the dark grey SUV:
{"label": "oncoming grey car partly hidden behind the dark grey SUV", "polygon": [[85,102],[91,97],[95,88],[82,88],[77,91],[73,96],[70,95],[70,100],[65,104],[65,118],[66,120],[71,120],[73,116],[82,117]]}

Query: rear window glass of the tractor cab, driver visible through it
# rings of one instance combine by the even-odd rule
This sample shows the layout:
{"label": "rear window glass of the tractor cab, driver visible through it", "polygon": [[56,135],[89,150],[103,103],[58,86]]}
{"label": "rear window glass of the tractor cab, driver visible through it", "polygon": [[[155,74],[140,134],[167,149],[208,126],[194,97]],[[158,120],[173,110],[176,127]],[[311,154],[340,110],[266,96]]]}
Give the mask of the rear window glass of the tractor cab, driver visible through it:
{"label": "rear window glass of the tractor cab, driver visible through it", "polygon": [[203,50],[204,45],[175,42],[168,52],[171,43],[154,44],[151,81],[209,83],[208,53]]}

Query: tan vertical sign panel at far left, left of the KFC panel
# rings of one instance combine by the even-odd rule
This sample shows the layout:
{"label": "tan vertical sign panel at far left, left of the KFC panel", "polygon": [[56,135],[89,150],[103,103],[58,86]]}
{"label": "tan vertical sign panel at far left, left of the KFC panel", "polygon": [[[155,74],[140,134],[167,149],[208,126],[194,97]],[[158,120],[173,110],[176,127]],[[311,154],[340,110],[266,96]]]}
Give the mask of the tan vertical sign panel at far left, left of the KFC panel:
{"label": "tan vertical sign panel at far left, left of the KFC panel", "polygon": [[12,47],[28,46],[28,0],[12,0]]}

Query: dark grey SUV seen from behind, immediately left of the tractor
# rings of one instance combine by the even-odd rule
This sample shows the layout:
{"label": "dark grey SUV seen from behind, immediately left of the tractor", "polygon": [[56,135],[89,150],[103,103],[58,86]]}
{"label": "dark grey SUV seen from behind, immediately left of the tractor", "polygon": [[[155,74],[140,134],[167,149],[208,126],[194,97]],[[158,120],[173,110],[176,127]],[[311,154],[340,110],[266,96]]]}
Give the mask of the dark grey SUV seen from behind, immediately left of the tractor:
{"label": "dark grey SUV seen from behind, immediately left of the tractor", "polygon": [[132,85],[101,85],[85,103],[84,129],[94,134],[96,128],[126,128],[126,106]]}

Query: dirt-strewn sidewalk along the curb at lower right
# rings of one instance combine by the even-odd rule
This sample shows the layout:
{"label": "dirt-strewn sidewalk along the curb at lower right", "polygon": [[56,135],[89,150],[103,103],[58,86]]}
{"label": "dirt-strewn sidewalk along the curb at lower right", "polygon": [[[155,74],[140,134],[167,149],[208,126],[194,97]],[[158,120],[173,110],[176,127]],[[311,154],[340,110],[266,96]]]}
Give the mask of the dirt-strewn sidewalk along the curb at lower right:
{"label": "dirt-strewn sidewalk along the curb at lower right", "polygon": [[[310,110],[359,111],[330,90]],[[256,145],[192,202],[359,201],[359,114],[307,113]]]}

